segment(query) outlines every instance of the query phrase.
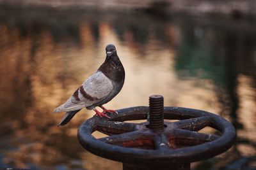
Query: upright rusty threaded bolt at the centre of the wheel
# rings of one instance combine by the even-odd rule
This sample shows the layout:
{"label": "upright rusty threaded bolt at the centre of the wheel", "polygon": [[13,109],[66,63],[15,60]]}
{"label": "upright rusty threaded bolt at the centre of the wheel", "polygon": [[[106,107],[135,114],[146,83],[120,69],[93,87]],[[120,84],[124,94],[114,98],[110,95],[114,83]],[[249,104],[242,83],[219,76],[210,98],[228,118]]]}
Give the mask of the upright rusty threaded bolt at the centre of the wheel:
{"label": "upright rusty threaded bolt at the centre of the wheel", "polygon": [[149,97],[149,128],[156,131],[164,129],[164,97],[161,95]]}

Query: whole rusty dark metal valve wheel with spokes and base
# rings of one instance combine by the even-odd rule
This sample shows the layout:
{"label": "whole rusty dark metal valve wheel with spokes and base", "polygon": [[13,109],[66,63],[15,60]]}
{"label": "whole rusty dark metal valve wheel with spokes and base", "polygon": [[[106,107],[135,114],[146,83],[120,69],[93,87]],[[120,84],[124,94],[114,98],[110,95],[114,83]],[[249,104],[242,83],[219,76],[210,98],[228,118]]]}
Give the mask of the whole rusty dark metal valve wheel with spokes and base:
{"label": "whole rusty dark metal valve wheel with spokes and base", "polygon": [[[160,105],[158,103],[159,107],[156,107],[158,111]],[[123,162],[125,170],[188,170],[191,162],[223,153],[236,140],[236,131],[230,122],[202,110],[164,107],[164,119],[178,121],[155,125],[156,122],[161,124],[163,115],[153,119],[150,115],[150,122],[125,122],[145,120],[150,112],[151,108],[138,106],[118,110],[118,115],[110,113],[111,119],[90,118],[79,127],[79,142],[95,155]],[[216,129],[219,135],[198,132],[204,127]],[[108,137],[96,139],[92,136],[94,131]]]}

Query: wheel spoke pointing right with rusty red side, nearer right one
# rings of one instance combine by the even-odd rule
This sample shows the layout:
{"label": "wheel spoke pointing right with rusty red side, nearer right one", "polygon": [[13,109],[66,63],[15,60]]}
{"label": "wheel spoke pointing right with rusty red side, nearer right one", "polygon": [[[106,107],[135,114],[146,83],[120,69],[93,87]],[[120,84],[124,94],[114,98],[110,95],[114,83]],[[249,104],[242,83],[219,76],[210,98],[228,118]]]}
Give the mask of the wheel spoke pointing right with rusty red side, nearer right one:
{"label": "wheel spoke pointing right with rusty red side, nearer right one", "polygon": [[174,140],[180,146],[200,145],[220,138],[220,136],[215,134],[204,134],[184,129],[173,129],[173,132],[166,134],[166,136],[168,136],[168,141]]}

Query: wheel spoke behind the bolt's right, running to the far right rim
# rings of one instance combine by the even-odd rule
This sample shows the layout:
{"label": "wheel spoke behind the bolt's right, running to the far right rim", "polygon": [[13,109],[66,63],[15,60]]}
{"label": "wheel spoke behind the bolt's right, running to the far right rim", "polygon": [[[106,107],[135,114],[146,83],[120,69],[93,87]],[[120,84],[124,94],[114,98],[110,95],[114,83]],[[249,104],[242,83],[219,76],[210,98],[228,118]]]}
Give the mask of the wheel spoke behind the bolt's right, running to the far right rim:
{"label": "wheel spoke behind the bolt's right, running to the far right rim", "polygon": [[174,122],[177,129],[186,129],[188,131],[200,131],[206,126],[211,126],[211,117],[196,117]]}

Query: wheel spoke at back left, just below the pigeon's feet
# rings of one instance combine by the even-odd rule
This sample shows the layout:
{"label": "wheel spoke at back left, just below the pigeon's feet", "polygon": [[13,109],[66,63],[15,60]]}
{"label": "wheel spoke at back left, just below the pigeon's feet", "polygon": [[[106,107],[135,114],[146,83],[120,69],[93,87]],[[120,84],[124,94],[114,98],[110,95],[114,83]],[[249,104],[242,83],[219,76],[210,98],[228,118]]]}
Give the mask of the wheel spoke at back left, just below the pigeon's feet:
{"label": "wheel spoke at back left, just below the pigeon's feet", "polygon": [[95,131],[102,132],[107,135],[123,134],[125,132],[136,131],[136,123],[114,122],[114,121],[99,121]]}

